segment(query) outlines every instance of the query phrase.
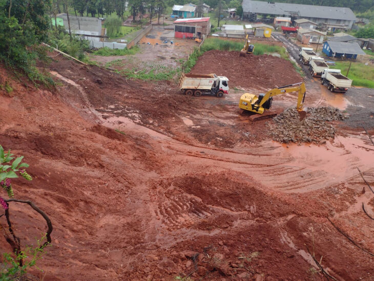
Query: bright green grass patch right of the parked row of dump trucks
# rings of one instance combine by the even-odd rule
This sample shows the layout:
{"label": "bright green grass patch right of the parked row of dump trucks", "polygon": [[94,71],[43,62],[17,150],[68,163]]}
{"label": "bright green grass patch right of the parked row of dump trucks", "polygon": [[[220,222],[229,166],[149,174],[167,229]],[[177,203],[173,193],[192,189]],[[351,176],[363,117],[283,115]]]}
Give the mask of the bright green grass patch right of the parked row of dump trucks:
{"label": "bright green grass patch right of the parked row of dump trucks", "polygon": [[[342,74],[347,74],[349,62],[335,62],[333,69],[340,69]],[[352,79],[352,85],[365,88],[374,88],[374,66],[363,63],[352,62],[349,69],[348,78]]]}

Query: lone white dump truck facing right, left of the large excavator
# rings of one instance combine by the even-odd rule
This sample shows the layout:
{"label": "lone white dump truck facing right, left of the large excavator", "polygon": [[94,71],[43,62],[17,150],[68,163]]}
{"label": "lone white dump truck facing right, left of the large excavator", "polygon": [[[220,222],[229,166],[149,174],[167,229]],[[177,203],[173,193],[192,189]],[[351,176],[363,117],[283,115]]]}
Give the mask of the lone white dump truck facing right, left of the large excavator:
{"label": "lone white dump truck facing right, left of the large excavator", "polygon": [[185,95],[201,96],[214,94],[222,97],[228,94],[228,78],[216,74],[182,74],[178,83]]}

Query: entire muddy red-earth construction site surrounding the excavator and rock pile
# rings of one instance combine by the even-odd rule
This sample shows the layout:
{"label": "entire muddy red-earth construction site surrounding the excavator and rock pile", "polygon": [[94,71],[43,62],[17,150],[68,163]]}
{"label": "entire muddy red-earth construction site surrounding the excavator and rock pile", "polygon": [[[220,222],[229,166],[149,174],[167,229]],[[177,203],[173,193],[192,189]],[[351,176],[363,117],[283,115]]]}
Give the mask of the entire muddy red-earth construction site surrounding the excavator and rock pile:
{"label": "entire muddy red-earth construction site surrounding the excavator and rock pile", "polygon": [[[175,39],[165,51],[163,33],[153,32],[140,41],[148,51],[111,68],[133,69],[150,54],[177,67],[195,46]],[[38,262],[44,271],[28,274],[374,280],[373,89],[332,92],[309,71],[301,76],[292,59],[211,50],[186,77],[216,74],[223,85],[227,78],[227,93],[209,86],[183,94],[179,77],[141,81],[107,69],[111,58],[104,59],[88,66],[53,56],[39,67],[58,81],[55,89],[0,68],[0,84],[13,89],[0,91],[7,112],[0,144],[24,155],[34,178],[13,185],[53,223],[52,244]],[[287,85],[305,87],[302,103],[296,92],[279,91],[273,118],[240,114],[243,94],[257,98]],[[23,245],[45,231],[32,209],[15,204],[12,216]],[[0,244],[12,251],[3,235]]]}

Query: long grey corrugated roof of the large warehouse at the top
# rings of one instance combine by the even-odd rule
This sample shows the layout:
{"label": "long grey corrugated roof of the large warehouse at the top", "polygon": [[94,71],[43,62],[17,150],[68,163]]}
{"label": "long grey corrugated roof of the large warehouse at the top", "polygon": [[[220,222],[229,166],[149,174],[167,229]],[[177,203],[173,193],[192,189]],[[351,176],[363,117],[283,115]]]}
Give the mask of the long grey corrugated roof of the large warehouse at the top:
{"label": "long grey corrugated roof of the large warehouse at the top", "polygon": [[253,0],[243,0],[242,6],[244,12],[251,13],[299,15],[301,17],[345,19],[348,21],[356,21],[356,16],[352,10],[343,7],[274,3]]}

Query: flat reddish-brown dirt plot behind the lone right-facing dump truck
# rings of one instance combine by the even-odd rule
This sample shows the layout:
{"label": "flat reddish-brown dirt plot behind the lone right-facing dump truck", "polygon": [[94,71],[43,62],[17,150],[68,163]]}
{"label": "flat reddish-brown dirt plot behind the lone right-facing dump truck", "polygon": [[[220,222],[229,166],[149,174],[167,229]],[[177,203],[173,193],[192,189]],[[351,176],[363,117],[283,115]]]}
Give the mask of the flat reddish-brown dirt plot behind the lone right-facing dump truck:
{"label": "flat reddish-brown dirt plot behind the lone right-facing dump truck", "polygon": [[275,88],[302,82],[294,66],[272,55],[246,55],[237,51],[207,51],[199,57],[191,73],[216,73],[226,76],[231,87]]}

